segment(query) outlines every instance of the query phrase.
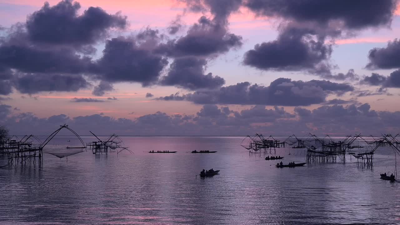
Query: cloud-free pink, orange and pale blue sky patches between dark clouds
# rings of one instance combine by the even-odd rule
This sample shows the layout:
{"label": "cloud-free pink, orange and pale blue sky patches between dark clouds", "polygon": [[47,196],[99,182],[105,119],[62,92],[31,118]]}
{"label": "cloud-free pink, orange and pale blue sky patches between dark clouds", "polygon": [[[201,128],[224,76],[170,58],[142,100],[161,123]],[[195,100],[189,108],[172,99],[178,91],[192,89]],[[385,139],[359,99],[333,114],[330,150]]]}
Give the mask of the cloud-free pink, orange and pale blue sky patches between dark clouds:
{"label": "cloud-free pink, orange and pale blue sky patches between dark clouds", "polygon": [[[11,4],[15,8],[22,6],[32,6],[35,9],[39,9],[43,5],[42,0],[0,0],[0,4]],[[57,4],[58,0],[49,0],[50,5]],[[146,1],[126,1],[126,0],[80,0],[79,1],[82,10],[85,10],[88,6],[100,6],[108,13],[116,13],[121,11],[123,15],[128,16],[130,23],[130,32],[137,32],[138,30],[150,26],[151,28],[158,28],[161,32],[168,24],[176,18],[176,15],[183,14],[184,5],[174,0],[146,0]],[[24,22],[26,18],[22,14],[18,14],[17,11],[8,11],[7,14],[0,16],[3,20],[10,18],[13,22]],[[13,14],[16,14],[15,18],[11,18]],[[400,15],[400,6],[396,10],[396,14]],[[5,15],[5,16],[4,16]],[[186,29],[190,27],[202,14],[194,14],[187,12],[182,17]],[[209,14],[208,14],[209,16]],[[222,76],[225,78],[227,84],[235,84],[236,82],[250,81],[252,83],[265,84],[268,86],[270,82],[278,77],[290,77],[293,80],[312,80],[315,76],[308,74],[290,75],[290,72],[260,72],[253,68],[245,67],[242,65],[243,53],[250,48],[253,48],[255,44],[264,41],[274,40],[277,36],[276,24],[267,20],[267,18],[255,17],[253,13],[248,10],[241,9],[240,12],[234,13],[230,16],[230,30],[235,34],[242,35],[244,38],[244,46],[241,49],[230,51],[226,55],[219,56],[216,59],[211,60],[206,72],[213,72],[214,75]],[[394,18],[391,30],[366,30],[361,32],[359,35],[347,39],[336,40],[337,48],[342,46],[348,46],[354,49],[353,52],[354,64],[358,67],[354,68],[356,73],[360,75],[368,75],[370,71],[365,70],[362,66],[366,64],[366,52],[371,48],[378,46],[382,47],[389,40],[393,40],[398,37],[400,28],[399,16]],[[186,30],[178,33],[178,35],[184,35]],[[101,52],[101,49],[99,50]],[[334,62],[341,62],[341,59],[346,56],[340,53],[336,55],[334,53]],[[338,64],[340,68],[337,72],[347,71],[349,68]],[[390,73],[389,70],[382,71],[384,75]],[[21,98],[20,93],[14,92],[11,97],[12,100],[6,101],[14,107],[20,108],[24,112],[34,112],[40,117],[48,117],[60,113],[68,114],[71,116],[78,115],[91,115],[95,113],[103,112],[105,115],[113,117],[138,117],[156,111],[166,112],[168,114],[174,113],[185,113],[194,114],[201,106],[194,105],[190,102],[162,102],[154,101],[149,98],[145,98],[147,92],[151,92],[155,97],[166,96],[175,92],[180,91],[181,93],[188,93],[187,90],[182,90],[176,87],[164,87],[154,86],[148,88],[142,88],[139,84],[130,83],[117,83],[115,84],[114,91],[106,94],[102,97],[92,96],[92,90],[81,90],[79,92],[60,92],[60,93],[46,93],[42,92],[35,94],[38,96],[38,100],[32,100],[32,98]],[[388,104],[389,102],[395,102],[398,99],[398,90],[391,90],[393,96],[369,96],[360,98],[360,100],[368,101],[373,108],[384,107],[387,110],[394,111],[400,110],[398,104]],[[135,94],[137,93],[137,94]],[[26,96],[26,95],[25,95]],[[104,103],[73,103],[70,102],[71,98],[84,97],[84,98],[98,98],[106,99],[108,97],[116,97],[119,100]],[[351,96],[346,96],[350,98]],[[385,100],[377,101],[379,98],[385,98]],[[248,108],[250,106],[231,106],[232,108]],[[309,108],[316,108],[317,106],[310,106]],[[286,107],[288,110],[292,110],[290,107]],[[133,115],[129,115],[130,112],[135,112]]]}

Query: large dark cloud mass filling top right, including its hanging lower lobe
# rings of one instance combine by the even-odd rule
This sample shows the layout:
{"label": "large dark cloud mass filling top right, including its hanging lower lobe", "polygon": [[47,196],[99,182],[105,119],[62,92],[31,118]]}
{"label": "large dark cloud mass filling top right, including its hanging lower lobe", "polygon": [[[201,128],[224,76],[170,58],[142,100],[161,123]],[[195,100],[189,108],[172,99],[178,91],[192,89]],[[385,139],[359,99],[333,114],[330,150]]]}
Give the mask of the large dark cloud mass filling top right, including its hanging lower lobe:
{"label": "large dark cloud mass filling top right, including its hanging lower lobe", "polygon": [[246,52],[244,64],[261,70],[305,70],[327,79],[355,78],[351,73],[330,72],[334,65],[329,61],[332,46],[328,41],[354,35],[353,30],[390,26],[396,3],[397,0],[248,0],[244,5],[259,16],[279,17],[283,22],[278,38]]}

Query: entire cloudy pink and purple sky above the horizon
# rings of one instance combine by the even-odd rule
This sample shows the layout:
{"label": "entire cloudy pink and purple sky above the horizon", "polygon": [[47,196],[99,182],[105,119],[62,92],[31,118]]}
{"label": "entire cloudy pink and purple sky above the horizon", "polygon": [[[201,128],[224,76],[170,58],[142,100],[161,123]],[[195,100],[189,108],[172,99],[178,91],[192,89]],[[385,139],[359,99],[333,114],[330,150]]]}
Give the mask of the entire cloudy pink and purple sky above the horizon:
{"label": "entire cloudy pink and purple sky above the horizon", "polygon": [[399,133],[397,0],[0,0],[0,125]]}

